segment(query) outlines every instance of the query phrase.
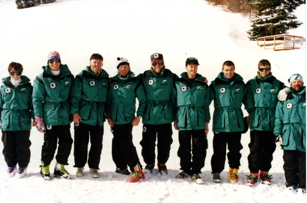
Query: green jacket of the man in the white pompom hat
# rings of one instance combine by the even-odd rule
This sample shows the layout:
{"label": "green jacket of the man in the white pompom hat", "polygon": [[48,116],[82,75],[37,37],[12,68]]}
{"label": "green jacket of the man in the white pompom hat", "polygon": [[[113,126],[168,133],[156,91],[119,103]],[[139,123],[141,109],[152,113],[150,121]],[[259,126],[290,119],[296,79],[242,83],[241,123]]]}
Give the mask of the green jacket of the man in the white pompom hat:
{"label": "green jacket of the man in the white pompom hat", "polygon": [[110,83],[108,92],[107,118],[114,124],[131,123],[135,118],[135,98],[138,98],[137,116],[144,116],[147,107],[147,98],[142,83],[130,72],[122,83],[119,75],[115,75]]}

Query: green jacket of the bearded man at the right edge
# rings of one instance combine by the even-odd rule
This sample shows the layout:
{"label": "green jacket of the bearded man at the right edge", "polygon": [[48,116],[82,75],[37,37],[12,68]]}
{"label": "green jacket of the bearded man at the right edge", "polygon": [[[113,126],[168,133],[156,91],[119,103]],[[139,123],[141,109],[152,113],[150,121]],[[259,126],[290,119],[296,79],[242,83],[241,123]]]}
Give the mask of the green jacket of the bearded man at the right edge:
{"label": "green jacket of the bearded man at the right edge", "polygon": [[287,100],[277,103],[274,135],[282,136],[282,149],[306,152],[306,87],[290,88]]}

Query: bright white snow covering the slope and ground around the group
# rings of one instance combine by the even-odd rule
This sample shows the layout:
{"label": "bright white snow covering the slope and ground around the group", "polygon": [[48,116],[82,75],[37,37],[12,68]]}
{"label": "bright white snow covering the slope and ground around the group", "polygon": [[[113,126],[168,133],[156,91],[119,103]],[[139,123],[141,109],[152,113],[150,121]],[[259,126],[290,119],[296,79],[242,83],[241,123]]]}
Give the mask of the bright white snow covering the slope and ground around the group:
{"label": "bright white snow covering the slope and ground around the group", "polygon": [[[295,13],[304,24],[290,34],[304,36],[305,5]],[[8,76],[7,66],[16,61],[24,66],[23,74],[32,82],[42,72],[50,51],[58,51],[62,63],[68,64],[73,75],[88,65],[92,53],[104,57],[103,68],[110,76],[116,74],[116,58],[129,60],[135,74],[150,68],[150,55],[164,55],[166,68],[176,74],[185,71],[185,60],[196,57],[198,72],[214,80],[225,60],[235,63],[235,71],[244,81],[253,78],[259,60],[268,59],[275,77],[289,85],[287,79],[293,73],[304,75],[306,81],[306,49],[274,52],[263,50],[255,41],[248,41],[248,17],[227,13],[204,0],[60,0],[52,4],[17,10],[13,0],[0,0],[0,78]],[[236,37],[234,37],[236,35]],[[210,106],[211,116],[213,105]],[[245,115],[247,115],[246,111]],[[200,176],[205,184],[190,180],[177,180],[180,172],[177,157],[178,132],[173,129],[173,144],[167,162],[169,173],[146,175],[138,183],[130,184],[126,176],[116,174],[111,156],[112,133],[105,123],[103,151],[100,161],[100,177],[87,174],[76,178],[73,168],[73,147],[66,169],[70,180],[52,178],[44,181],[39,174],[43,135],[32,129],[31,161],[28,174],[22,179],[4,176],[6,163],[0,155],[0,199],[2,202],[305,202],[298,194],[288,194],[282,169],[282,150],[276,149],[272,169],[271,186],[245,185],[249,173],[247,155],[249,131],[242,135],[241,167],[239,182],[227,182],[228,166],[222,172],[222,182],[212,182],[210,160],[213,153],[209,132],[209,148],[205,167]],[[209,124],[212,130],[212,124]],[[73,137],[73,126],[71,128]],[[134,145],[141,163],[142,125],[133,129]],[[2,151],[3,145],[0,144]],[[54,166],[55,160],[51,165]],[[52,168],[52,167],[51,167]],[[52,169],[51,169],[52,172]]]}

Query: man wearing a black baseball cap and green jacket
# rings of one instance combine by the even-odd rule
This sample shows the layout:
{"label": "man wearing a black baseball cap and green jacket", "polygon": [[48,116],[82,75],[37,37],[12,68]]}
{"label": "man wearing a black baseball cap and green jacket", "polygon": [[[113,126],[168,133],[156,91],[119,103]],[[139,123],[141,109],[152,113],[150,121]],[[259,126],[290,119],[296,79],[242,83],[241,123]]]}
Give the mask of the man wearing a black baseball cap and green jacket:
{"label": "man wearing a black baseball cap and green jacket", "polygon": [[179,130],[178,156],[182,170],[176,178],[190,176],[197,184],[203,184],[199,174],[205,165],[208,148],[210,90],[204,78],[197,73],[198,65],[196,58],[186,60],[187,72],[183,72],[181,78],[175,81],[172,100],[176,106],[174,128]]}

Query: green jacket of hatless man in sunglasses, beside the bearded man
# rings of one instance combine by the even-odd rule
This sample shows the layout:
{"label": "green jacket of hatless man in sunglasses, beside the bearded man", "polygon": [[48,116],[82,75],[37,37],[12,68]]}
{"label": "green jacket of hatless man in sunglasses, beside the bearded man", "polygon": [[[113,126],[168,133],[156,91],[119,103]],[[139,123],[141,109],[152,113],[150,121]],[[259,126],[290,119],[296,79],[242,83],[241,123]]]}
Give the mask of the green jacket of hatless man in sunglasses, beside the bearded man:
{"label": "green jacket of hatless man in sunglasses, beside the bearded man", "polygon": [[285,88],[285,84],[270,73],[265,80],[256,76],[249,80],[246,86],[245,109],[251,114],[250,129],[273,131],[277,95],[279,90]]}

